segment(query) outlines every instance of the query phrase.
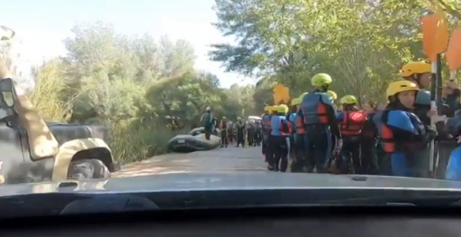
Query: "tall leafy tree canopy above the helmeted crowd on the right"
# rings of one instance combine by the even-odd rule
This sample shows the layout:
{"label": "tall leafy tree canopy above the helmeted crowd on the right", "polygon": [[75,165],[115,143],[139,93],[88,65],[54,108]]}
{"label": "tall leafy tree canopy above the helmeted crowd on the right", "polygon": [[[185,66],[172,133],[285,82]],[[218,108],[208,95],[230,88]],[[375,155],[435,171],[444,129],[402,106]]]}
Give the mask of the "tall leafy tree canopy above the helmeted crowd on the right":
{"label": "tall leafy tree canopy above the helmeted crowd on the right", "polygon": [[[459,25],[461,2],[434,0]],[[279,82],[295,96],[309,78],[328,72],[332,89],[383,100],[379,91],[398,78],[402,63],[424,59],[420,17],[427,0],[216,0],[217,29],[237,43],[213,45],[226,70],[260,78],[255,100]],[[263,95],[263,98],[259,98]]]}

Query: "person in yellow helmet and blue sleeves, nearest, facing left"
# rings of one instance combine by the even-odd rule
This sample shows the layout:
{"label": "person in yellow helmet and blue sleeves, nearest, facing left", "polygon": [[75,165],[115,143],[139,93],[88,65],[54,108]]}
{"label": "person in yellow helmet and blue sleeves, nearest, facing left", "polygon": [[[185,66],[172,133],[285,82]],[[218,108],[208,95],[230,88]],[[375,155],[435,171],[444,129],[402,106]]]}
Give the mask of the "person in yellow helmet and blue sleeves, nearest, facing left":
{"label": "person in yellow helmet and blue sleeves, nearest, facing left", "polygon": [[373,118],[387,160],[383,165],[388,165],[383,167],[384,175],[426,175],[418,167],[418,151],[434,139],[435,132],[427,130],[412,112],[418,91],[419,87],[408,80],[391,82],[386,90],[388,106]]}

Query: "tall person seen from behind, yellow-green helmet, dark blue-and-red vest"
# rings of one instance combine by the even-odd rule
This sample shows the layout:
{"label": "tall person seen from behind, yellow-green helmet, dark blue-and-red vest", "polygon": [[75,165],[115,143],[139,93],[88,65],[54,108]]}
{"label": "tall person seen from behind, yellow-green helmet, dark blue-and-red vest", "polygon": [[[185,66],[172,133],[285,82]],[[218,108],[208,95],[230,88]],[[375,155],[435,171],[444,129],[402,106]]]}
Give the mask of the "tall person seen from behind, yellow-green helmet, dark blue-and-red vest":
{"label": "tall person seen from behind, yellow-green helmet, dark blue-and-red vest", "polygon": [[[326,73],[314,75],[311,79],[314,91],[302,98],[298,112],[306,131],[306,154],[308,172],[326,173],[330,166],[332,147],[340,150],[342,146],[337,115],[328,91],[332,79]],[[333,144],[332,137],[335,137]]]}

